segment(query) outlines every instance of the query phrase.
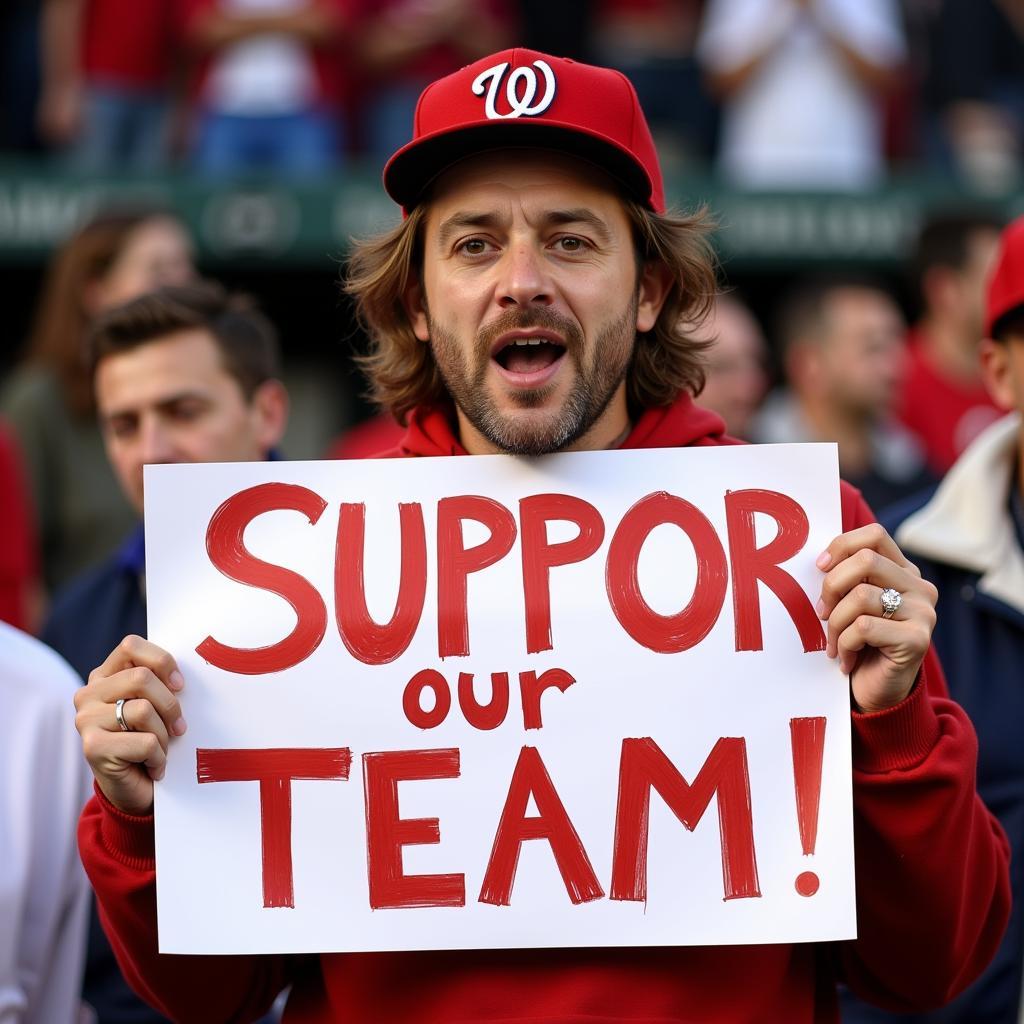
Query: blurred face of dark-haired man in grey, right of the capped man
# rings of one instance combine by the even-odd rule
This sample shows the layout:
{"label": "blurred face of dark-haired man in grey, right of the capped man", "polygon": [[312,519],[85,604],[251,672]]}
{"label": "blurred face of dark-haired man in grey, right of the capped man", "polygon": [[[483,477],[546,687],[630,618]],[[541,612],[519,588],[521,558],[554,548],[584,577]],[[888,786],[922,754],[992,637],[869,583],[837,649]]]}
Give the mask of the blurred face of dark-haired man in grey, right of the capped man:
{"label": "blurred face of dark-haired man in grey, right of the capped man", "polygon": [[885,293],[836,289],[820,342],[822,386],[829,399],[853,416],[888,416],[903,380],[904,336],[902,314]]}

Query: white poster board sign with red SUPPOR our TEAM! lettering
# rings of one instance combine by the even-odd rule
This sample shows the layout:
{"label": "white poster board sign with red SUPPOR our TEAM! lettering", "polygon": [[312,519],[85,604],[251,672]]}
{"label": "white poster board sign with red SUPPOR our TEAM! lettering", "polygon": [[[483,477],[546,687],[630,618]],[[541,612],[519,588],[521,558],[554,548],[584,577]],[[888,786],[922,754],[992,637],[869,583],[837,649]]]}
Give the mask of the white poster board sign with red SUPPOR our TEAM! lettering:
{"label": "white poster board sign with red SUPPOR our TEAM! lettering", "polygon": [[853,937],[834,445],[154,466],[165,952]]}

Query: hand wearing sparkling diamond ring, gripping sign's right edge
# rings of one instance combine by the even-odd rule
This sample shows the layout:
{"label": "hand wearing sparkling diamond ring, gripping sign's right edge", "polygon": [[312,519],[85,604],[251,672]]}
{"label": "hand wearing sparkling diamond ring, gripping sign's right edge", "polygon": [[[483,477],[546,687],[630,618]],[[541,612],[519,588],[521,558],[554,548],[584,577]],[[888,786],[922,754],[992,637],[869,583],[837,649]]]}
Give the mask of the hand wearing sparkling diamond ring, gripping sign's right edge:
{"label": "hand wearing sparkling diamond ring, gripping sign's right edge", "polygon": [[861,711],[899,703],[913,686],[935,628],[938,593],[878,523],[841,534],[818,556],[825,653],[850,676]]}

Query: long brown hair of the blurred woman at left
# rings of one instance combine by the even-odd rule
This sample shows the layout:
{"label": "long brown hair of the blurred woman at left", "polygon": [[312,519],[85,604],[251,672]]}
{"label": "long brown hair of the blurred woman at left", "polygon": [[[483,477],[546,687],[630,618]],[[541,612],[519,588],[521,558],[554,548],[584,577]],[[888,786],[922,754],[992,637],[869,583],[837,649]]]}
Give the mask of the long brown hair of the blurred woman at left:
{"label": "long brown hair of the blurred woman at left", "polygon": [[86,290],[114,265],[128,237],[150,220],[173,216],[158,207],[110,210],[83,224],[56,252],[43,282],[26,360],[56,375],[72,412],[94,410],[83,349],[91,315]]}

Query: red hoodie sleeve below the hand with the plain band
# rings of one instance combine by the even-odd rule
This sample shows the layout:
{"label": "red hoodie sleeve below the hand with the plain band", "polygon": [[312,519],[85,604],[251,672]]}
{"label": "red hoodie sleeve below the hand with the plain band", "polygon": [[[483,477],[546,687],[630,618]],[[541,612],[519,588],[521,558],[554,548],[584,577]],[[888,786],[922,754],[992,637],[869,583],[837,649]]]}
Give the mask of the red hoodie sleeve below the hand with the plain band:
{"label": "red hoodie sleeve below the hand with the plain band", "polygon": [[270,1009],[288,984],[292,957],[159,952],[152,815],[124,814],[97,790],[82,814],[78,839],[103,931],[141,998],[189,1024],[241,1024]]}

